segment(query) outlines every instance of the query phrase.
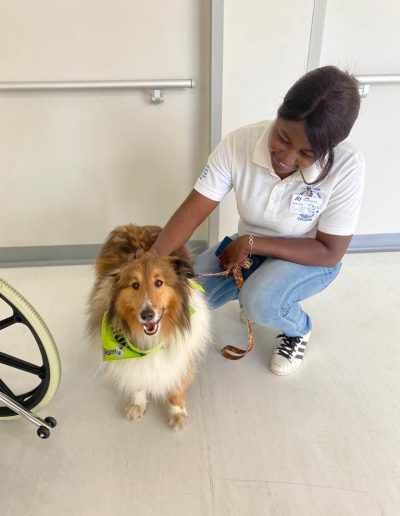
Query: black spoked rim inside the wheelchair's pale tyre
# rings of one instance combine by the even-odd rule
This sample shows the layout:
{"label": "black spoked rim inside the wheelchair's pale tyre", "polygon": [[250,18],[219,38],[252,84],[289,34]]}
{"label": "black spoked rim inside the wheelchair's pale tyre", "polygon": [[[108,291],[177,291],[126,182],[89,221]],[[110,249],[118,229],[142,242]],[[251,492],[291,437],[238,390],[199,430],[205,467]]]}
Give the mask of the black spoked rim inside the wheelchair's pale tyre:
{"label": "black spoked rim inside the wheelchair's pale tyre", "polygon": [[[25,325],[29,329],[32,336],[34,337],[36,344],[39,348],[40,356],[42,359],[42,364],[37,365],[37,364],[32,364],[30,362],[13,357],[6,353],[0,352],[0,364],[4,364],[11,368],[26,371],[27,373],[35,375],[39,380],[39,384],[34,389],[31,389],[27,392],[15,395],[12,391],[12,388],[9,385],[5,384],[5,382],[3,382],[0,379],[0,391],[4,392],[8,396],[15,399],[18,403],[20,403],[27,410],[31,410],[34,407],[36,407],[42,401],[42,399],[46,396],[46,393],[47,393],[47,390],[49,387],[49,383],[50,383],[49,360],[48,360],[46,351],[44,349],[44,346],[43,346],[38,334],[36,333],[35,328],[32,326],[32,324],[18,310],[18,308],[16,308],[10,301],[8,301],[7,298],[2,296],[1,294],[0,294],[0,299],[2,299],[5,303],[7,303],[13,311],[12,316],[7,317],[6,319],[0,320],[0,331],[4,328],[7,328],[14,324]],[[7,417],[7,416],[13,416],[13,415],[15,415],[15,412],[13,410],[11,410],[9,407],[0,407],[0,417]]]}

